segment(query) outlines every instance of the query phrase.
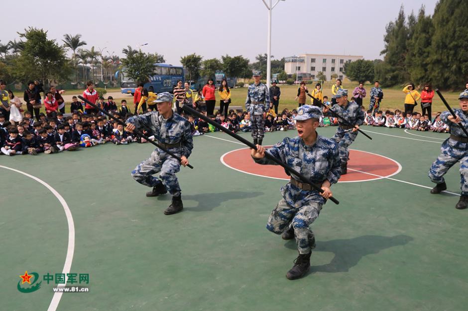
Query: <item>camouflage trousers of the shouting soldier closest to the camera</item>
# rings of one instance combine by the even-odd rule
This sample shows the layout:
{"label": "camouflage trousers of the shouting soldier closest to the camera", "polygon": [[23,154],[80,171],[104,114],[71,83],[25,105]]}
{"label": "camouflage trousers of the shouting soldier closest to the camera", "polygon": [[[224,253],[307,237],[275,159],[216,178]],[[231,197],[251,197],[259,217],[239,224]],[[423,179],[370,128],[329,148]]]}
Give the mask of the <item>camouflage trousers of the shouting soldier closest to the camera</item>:
{"label": "camouflage trousers of the shouting soldier closest to the camera", "polygon": [[266,229],[272,233],[281,234],[292,225],[296,235],[297,249],[300,254],[311,252],[311,243],[314,233],[309,226],[319,217],[322,204],[308,202],[301,207],[292,207],[286,200],[281,199],[271,212],[266,224]]}

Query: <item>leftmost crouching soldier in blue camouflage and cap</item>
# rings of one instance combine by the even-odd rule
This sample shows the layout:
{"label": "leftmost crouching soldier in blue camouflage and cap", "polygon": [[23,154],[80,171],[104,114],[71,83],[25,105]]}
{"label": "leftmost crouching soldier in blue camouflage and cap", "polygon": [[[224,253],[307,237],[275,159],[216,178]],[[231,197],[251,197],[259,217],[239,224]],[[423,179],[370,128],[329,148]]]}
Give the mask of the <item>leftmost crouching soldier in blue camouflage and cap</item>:
{"label": "leftmost crouching soldier in blue camouflage and cap", "polygon": [[[157,111],[133,116],[126,121],[129,131],[140,128],[148,128],[154,134],[158,144],[165,147],[173,154],[180,156],[181,162],[168,155],[166,152],[156,148],[151,156],[138,164],[131,172],[133,178],[140,184],[153,187],[146,193],[148,197],[155,197],[169,193],[172,195],[172,203],[164,211],[171,215],[183,209],[181,190],[175,173],[180,169],[180,164],[186,166],[188,157],[192,153],[193,140],[190,123],[172,111],[173,95],[168,92],[158,94]],[[159,179],[152,176],[159,172]]]}

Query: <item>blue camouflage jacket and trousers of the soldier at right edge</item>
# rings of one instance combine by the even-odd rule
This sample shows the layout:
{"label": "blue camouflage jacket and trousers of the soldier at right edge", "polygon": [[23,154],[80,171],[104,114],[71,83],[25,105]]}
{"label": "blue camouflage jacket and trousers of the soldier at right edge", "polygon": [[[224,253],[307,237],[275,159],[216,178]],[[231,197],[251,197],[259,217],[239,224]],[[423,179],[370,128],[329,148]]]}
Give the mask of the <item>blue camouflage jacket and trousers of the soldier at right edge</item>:
{"label": "blue camouflage jacket and trousers of the soldier at right edge", "polygon": [[[461,124],[468,128],[468,116],[462,109],[455,109],[455,114],[460,117]],[[458,137],[467,137],[463,132],[460,124],[454,123],[448,119],[451,115],[449,111],[444,111],[441,114],[441,120],[450,127],[450,134]],[[434,183],[445,182],[444,175],[458,161],[460,161],[460,184],[462,195],[468,195],[468,144],[456,141],[454,139],[446,139],[441,146],[441,154],[432,163],[429,169],[428,176]]]}

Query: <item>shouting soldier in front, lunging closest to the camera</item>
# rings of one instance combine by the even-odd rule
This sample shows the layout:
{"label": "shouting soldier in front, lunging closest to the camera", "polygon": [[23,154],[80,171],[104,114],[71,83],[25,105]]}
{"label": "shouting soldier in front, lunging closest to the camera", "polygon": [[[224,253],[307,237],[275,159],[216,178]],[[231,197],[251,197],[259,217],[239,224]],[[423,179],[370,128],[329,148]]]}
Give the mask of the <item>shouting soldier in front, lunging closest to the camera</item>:
{"label": "shouting soldier in front, lunging closest to the camera", "polygon": [[290,280],[301,278],[309,271],[310,255],[315,247],[315,237],[309,226],[319,216],[326,199],[332,196],[330,186],[340,178],[338,145],[316,132],[321,115],[319,107],[301,106],[294,118],[297,137],[285,138],[266,151],[260,145],[256,146],[257,151],[251,151],[255,162],[275,165],[275,162],[264,157],[266,152],[281,159],[324,190],[321,194],[286,171],[291,180],[281,188],[283,198],[271,213],[266,229],[276,234],[283,233],[283,238],[296,237],[299,256],[286,274]]}

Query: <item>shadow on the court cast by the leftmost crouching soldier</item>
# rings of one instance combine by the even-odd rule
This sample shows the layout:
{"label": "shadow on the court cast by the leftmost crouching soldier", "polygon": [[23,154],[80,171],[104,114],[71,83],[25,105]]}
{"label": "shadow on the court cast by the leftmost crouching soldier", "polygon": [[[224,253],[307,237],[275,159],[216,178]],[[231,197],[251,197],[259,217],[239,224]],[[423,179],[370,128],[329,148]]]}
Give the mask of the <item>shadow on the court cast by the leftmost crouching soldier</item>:
{"label": "shadow on the court cast by the leftmost crouching soldier", "polygon": [[[217,193],[200,193],[200,194],[188,194],[182,193],[182,201],[197,201],[198,205],[194,207],[188,206],[184,203],[184,211],[191,212],[204,212],[211,211],[216,207],[219,207],[223,202],[230,200],[244,200],[255,198],[262,195],[263,192],[244,192],[244,191],[228,191],[228,192],[217,192]],[[170,201],[171,196],[158,197],[161,201]]]}

